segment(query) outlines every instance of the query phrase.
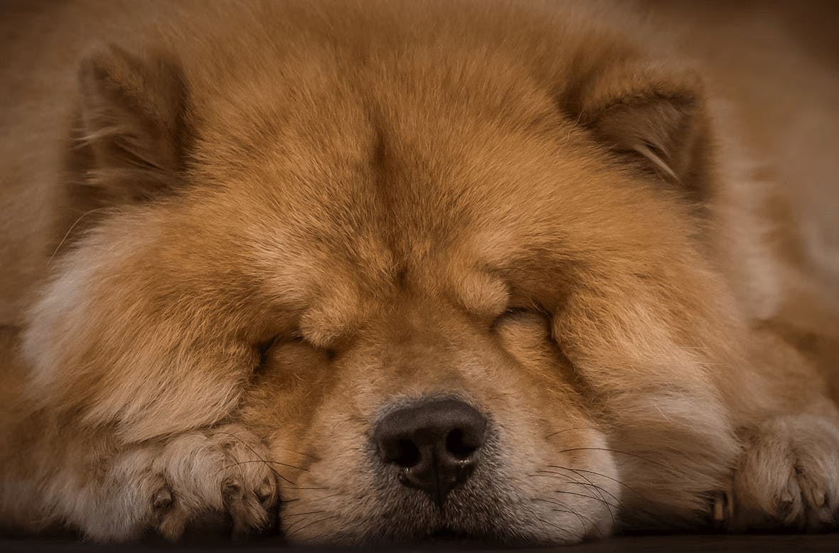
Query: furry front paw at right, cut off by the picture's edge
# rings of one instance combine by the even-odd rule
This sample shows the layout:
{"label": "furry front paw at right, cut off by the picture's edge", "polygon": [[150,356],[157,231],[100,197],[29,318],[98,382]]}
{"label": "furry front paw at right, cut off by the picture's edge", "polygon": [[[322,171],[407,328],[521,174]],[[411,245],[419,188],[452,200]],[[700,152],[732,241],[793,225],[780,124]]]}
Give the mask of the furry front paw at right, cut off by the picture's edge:
{"label": "furry front paw at right, cut off by the picture's edge", "polygon": [[734,477],[732,530],[827,530],[839,511],[839,426],[783,416],[747,437]]}

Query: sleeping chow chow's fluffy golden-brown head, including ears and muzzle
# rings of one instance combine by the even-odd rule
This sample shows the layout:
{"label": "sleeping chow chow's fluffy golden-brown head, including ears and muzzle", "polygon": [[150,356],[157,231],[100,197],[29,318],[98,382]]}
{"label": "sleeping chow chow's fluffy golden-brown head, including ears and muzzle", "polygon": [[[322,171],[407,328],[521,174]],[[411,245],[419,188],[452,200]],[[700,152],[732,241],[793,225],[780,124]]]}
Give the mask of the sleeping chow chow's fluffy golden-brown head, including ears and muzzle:
{"label": "sleeping chow chow's fluffy golden-brown head, including ears and muzzle", "polygon": [[39,400],[126,442],[242,421],[294,540],[695,522],[733,454],[701,89],[451,29],[91,55],[74,166],[113,207],[32,312]]}

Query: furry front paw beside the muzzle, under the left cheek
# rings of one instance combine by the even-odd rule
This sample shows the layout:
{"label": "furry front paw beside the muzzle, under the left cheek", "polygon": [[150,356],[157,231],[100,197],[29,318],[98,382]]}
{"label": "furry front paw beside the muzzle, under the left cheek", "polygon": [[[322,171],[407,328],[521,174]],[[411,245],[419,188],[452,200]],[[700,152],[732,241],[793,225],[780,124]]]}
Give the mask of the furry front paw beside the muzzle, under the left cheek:
{"label": "furry front paw beside the muzzle, under the left cheek", "polygon": [[177,540],[213,514],[227,515],[233,535],[267,530],[275,474],[263,446],[241,427],[189,432],[115,456],[79,525],[98,541],[149,532]]}

